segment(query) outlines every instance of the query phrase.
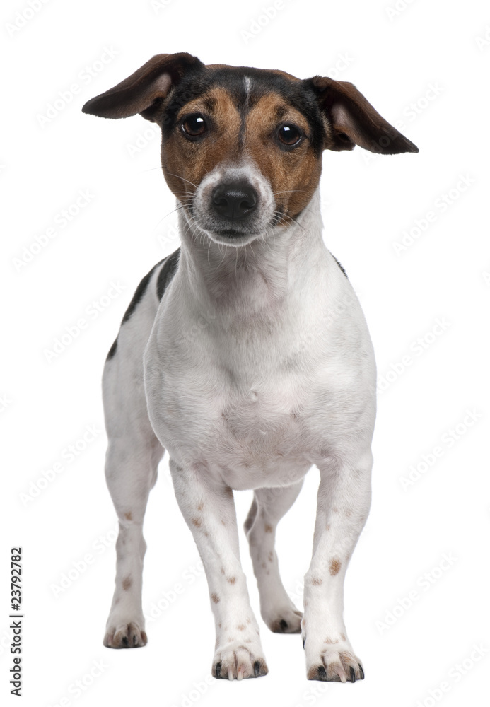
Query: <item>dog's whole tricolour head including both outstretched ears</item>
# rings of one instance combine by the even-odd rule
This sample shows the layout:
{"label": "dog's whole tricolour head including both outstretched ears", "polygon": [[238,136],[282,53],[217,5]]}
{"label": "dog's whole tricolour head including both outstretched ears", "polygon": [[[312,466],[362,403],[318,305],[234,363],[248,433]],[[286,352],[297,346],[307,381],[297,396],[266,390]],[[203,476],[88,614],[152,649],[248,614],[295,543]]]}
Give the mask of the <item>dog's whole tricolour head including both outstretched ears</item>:
{"label": "dog's whole tricolour head including both outstretched ears", "polygon": [[83,112],[162,129],[165,180],[211,240],[245,245],[301,214],[322,152],[418,152],[346,81],[158,54]]}

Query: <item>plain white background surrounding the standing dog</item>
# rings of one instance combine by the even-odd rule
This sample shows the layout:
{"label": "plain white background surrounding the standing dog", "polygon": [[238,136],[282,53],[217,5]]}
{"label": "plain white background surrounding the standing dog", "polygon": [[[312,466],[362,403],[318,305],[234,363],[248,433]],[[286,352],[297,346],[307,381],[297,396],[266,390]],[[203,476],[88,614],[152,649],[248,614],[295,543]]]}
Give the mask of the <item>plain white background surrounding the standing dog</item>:
{"label": "plain white background surrounding the standing dog", "polygon": [[[390,11],[395,1],[284,0],[270,20],[262,8],[272,0],[163,0],[160,8],[149,0],[31,0],[35,12],[27,1],[2,5],[0,689],[9,704],[18,703],[8,694],[7,573],[17,544],[25,706],[487,703],[490,12],[478,0],[398,0]],[[107,49],[112,59],[101,64]],[[153,54],[179,51],[209,64],[352,81],[420,148],[373,159],[360,148],[325,153],[322,176],[325,242],[361,299],[385,380],[373,507],[346,578],[346,626],[366,670],[356,685],[308,682],[300,636],[273,635],[262,621],[269,675],[209,677],[209,597],[166,458],[145,525],[144,609],[159,616],[147,624],[146,648],[102,645],[116,518],[103,475],[100,375],[134,288],[178,238],[153,124],[96,119],[81,106]],[[59,102],[60,92],[71,100]],[[61,110],[53,112],[55,102]],[[59,214],[80,190],[88,204],[61,228]],[[54,238],[19,265],[48,228]],[[395,242],[411,230],[419,238],[397,254]],[[112,283],[124,289],[111,300]],[[107,307],[96,312],[94,301]],[[81,318],[86,328],[49,356]],[[77,442],[69,461],[66,449]],[[404,488],[417,465],[419,478],[412,471],[416,480]],[[284,584],[300,605],[317,481],[312,470],[278,530]],[[235,498],[241,527],[251,493]],[[243,541],[240,530],[258,615]]]}

